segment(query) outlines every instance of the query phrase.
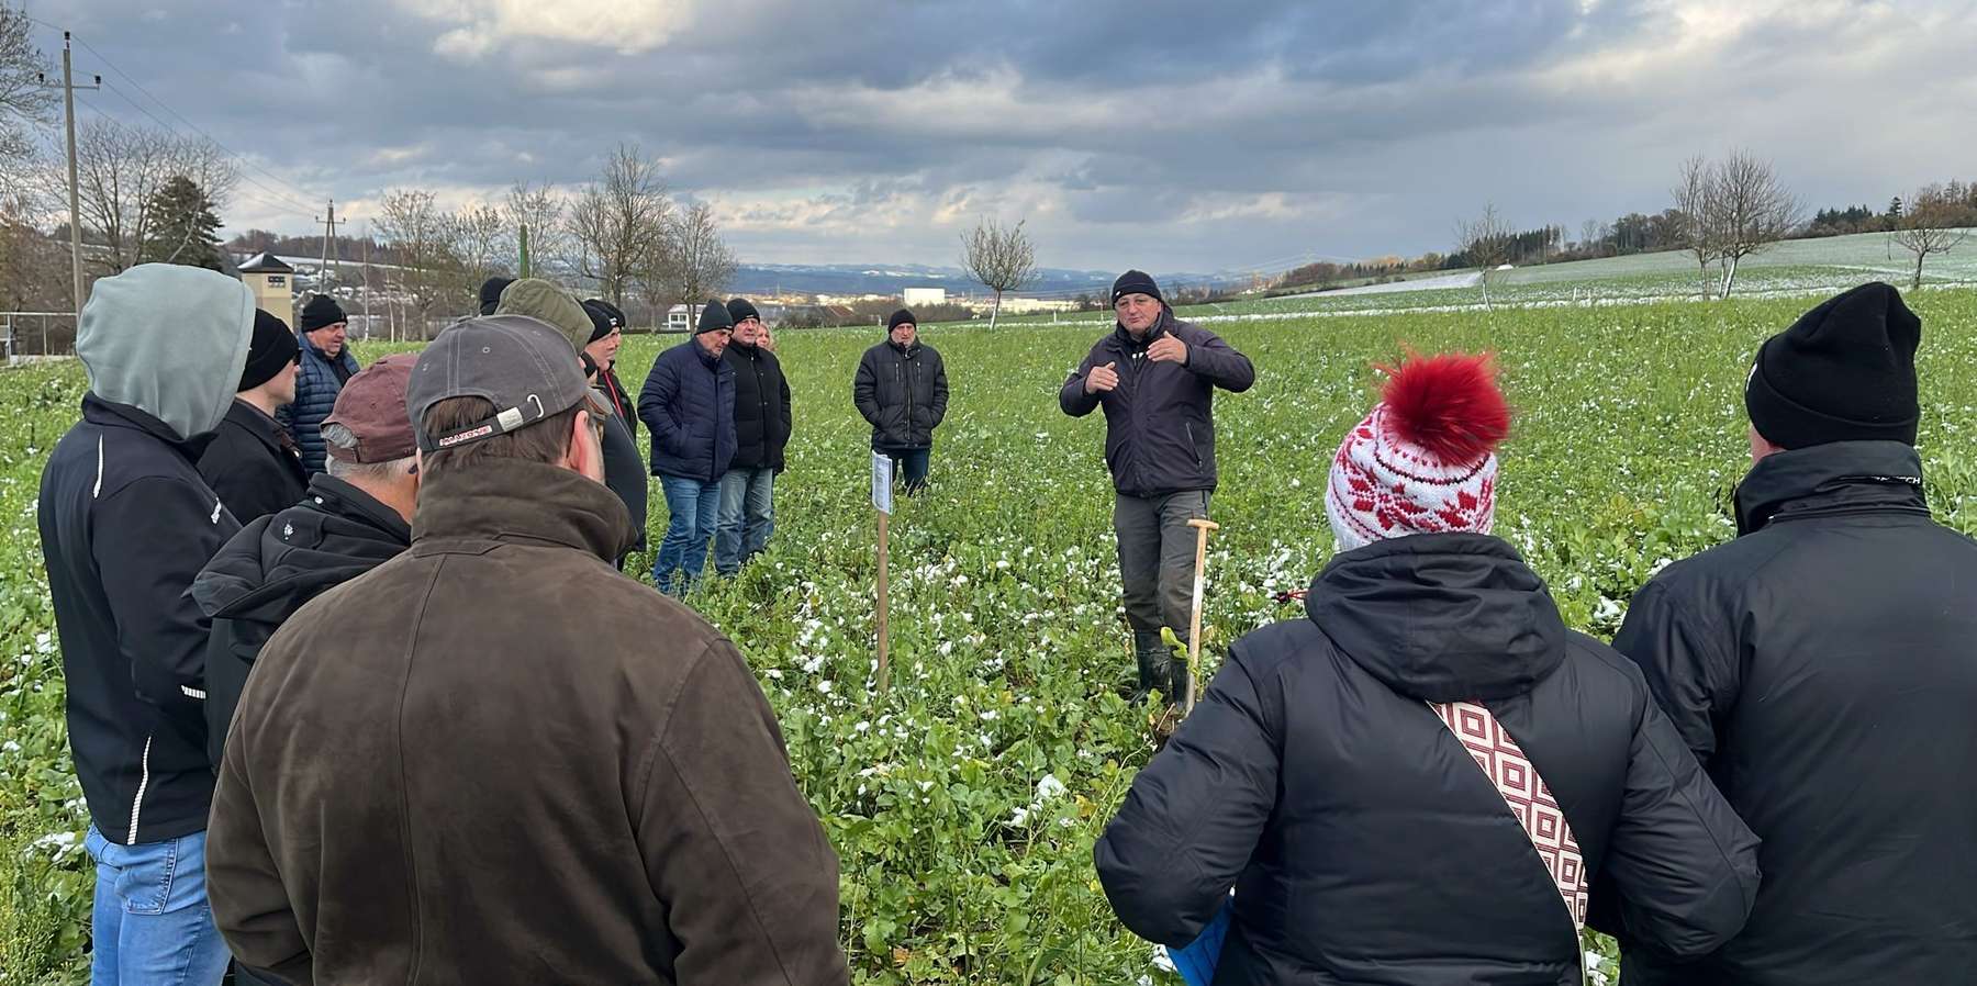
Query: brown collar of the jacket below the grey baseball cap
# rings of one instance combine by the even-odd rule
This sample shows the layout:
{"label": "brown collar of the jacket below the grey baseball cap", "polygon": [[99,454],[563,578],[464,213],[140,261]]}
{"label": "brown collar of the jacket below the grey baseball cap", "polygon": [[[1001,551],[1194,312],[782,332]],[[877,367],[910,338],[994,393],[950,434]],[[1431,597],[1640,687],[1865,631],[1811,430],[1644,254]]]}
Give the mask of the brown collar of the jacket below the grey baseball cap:
{"label": "brown collar of the jacket below the grey baseball cap", "polygon": [[563,545],[613,563],[637,532],[603,482],[548,462],[494,458],[423,474],[411,549],[445,551],[445,541]]}

